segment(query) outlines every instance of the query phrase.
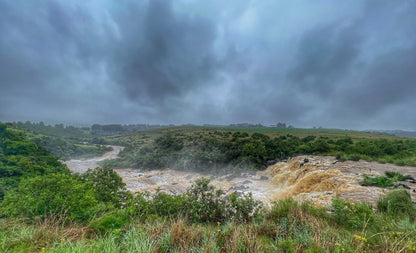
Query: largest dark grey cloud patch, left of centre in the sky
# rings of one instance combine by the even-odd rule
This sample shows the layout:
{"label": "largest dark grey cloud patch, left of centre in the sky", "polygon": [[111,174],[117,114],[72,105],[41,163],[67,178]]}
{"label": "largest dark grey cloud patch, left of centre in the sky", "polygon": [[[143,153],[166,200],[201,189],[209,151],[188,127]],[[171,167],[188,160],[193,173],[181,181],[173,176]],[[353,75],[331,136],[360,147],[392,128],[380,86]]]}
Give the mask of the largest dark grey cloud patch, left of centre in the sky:
{"label": "largest dark grey cloud patch, left of centre in the sky", "polygon": [[171,4],[150,1],[143,16],[138,10],[118,23],[124,43],[110,58],[111,75],[138,104],[163,104],[203,85],[215,71],[213,24],[178,16]]}

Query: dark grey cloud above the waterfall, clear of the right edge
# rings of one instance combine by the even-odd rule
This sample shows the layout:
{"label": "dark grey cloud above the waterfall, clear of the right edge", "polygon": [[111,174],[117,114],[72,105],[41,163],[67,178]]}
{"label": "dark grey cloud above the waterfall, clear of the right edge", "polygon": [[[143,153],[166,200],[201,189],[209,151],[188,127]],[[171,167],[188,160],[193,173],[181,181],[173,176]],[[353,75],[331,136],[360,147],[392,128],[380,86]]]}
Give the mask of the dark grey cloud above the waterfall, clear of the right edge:
{"label": "dark grey cloud above the waterfall, clear of the right edge", "polygon": [[356,24],[326,24],[306,31],[299,42],[298,62],[289,71],[289,80],[300,89],[327,98],[337,88],[337,82],[351,74],[361,39]]}

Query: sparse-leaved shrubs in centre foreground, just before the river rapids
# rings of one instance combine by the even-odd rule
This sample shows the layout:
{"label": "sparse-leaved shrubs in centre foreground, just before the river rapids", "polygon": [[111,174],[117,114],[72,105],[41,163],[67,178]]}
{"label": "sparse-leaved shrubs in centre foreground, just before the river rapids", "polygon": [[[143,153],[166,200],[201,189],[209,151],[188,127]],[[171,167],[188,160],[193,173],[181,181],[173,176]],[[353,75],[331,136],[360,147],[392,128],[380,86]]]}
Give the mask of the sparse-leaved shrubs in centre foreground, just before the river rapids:
{"label": "sparse-leaved shrubs in centre foreground, just before the river rapids", "polygon": [[208,178],[200,178],[185,193],[177,195],[161,191],[153,195],[138,193],[128,200],[126,213],[141,221],[186,218],[191,223],[248,223],[260,214],[263,205],[251,194],[224,196],[209,183]]}

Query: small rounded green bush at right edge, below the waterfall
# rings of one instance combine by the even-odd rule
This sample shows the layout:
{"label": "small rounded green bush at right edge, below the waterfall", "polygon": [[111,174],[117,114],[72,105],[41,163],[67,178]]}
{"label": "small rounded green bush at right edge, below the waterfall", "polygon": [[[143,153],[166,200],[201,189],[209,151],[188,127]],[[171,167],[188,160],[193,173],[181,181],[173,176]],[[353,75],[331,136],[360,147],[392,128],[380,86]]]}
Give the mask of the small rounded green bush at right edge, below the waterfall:
{"label": "small rounded green bush at right edge, below the waterfall", "polygon": [[395,217],[409,217],[412,221],[416,216],[416,208],[407,190],[389,192],[377,202],[377,210]]}

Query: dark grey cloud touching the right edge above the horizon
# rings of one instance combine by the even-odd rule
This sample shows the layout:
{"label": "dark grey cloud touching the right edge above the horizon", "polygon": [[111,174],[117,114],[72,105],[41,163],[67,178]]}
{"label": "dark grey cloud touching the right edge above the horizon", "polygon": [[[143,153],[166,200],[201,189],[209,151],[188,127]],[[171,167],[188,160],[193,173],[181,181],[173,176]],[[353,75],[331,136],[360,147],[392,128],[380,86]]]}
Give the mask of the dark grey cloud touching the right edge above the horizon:
{"label": "dark grey cloud touching the right edge above the horizon", "polygon": [[414,100],[416,94],[416,47],[389,52],[374,59],[360,85],[352,86],[341,104],[350,115],[370,116],[396,104]]}

